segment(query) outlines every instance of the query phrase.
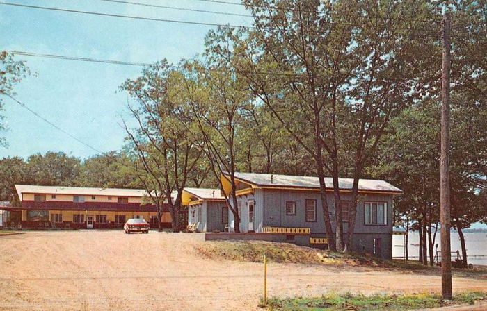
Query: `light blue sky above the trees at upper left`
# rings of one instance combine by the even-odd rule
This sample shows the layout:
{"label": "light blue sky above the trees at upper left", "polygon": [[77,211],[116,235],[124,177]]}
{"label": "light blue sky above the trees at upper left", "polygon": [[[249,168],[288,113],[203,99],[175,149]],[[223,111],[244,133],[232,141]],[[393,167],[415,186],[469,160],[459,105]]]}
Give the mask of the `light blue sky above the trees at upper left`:
{"label": "light blue sky above the trees at upper left", "polygon": [[[130,1],[130,0],[129,0]],[[237,3],[237,0],[228,0]],[[1,2],[133,15],[186,22],[250,25],[252,18],[170,10],[102,0],[6,0]],[[244,6],[202,0],[131,0],[159,6],[249,14]],[[163,58],[177,63],[202,53],[205,35],[215,26],[176,24],[118,17],[55,12],[0,4],[0,51],[26,51],[152,63]],[[15,98],[45,119],[102,152],[119,150],[130,121],[128,98],[118,87],[136,78],[142,67],[74,60],[15,56],[25,60],[31,72],[15,87]],[[63,151],[88,158],[97,151],[35,117],[7,97],[3,98],[7,148],[0,158]]]}

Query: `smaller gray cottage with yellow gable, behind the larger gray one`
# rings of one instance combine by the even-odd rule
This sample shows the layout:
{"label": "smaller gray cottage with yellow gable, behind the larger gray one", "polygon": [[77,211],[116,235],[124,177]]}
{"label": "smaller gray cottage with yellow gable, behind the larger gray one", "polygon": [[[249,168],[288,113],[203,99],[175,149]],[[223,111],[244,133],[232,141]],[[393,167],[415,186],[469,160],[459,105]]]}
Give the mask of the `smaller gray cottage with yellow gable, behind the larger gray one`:
{"label": "smaller gray cottage with yellow gable, behind the larger gray one", "polygon": [[223,232],[227,227],[227,203],[219,189],[186,187],[182,192],[182,203],[188,206],[188,225],[199,232]]}

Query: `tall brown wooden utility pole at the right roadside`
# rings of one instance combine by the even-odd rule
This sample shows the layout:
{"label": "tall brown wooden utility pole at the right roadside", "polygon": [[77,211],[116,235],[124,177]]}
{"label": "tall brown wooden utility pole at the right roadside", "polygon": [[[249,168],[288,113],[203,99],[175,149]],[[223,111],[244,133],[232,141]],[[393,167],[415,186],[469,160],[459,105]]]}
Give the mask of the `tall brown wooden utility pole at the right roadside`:
{"label": "tall brown wooden utility pole at the right roadside", "polygon": [[441,90],[441,160],[440,160],[440,221],[441,221],[441,291],[443,299],[451,300],[452,257],[450,253],[450,183],[449,183],[449,103],[450,103],[450,15],[445,8],[442,23],[443,66]]}

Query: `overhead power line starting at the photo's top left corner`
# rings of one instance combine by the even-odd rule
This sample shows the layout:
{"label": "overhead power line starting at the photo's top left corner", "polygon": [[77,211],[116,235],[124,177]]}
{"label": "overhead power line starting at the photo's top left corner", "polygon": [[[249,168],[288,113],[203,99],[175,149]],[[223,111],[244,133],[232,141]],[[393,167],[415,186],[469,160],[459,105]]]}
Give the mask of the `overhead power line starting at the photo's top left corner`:
{"label": "overhead power line starting at the photo's top left corner", "polygon": [[133,15],[120,15],[120,14],[111,14],[111,13],[102,13],[102,12],[90,12],[90,11],[83,11],[83,10],[70,10],[66,8],[51,8],[47,6],[29,6],[26,4],[19,4],[19,3],[10,3],[10,2],[0,2],[5,6],[19,6],[22,8],[36,8],[40,10],[52,10],[58,12],[70,12],[70,13],[78,13],[78,14],[87,14],[87,15],[99,15],[99,16],[108,16],[108,17],[120,17],[126,19],[141,19],[146,21],[152,22],[168,22],[168,23],[176,23],[176,24],[191,24],[191,25],[202,25],[202,26],[221,26],[221,27],[230,27],[230,28],[255,28],[253,26],[244,26],[244,25],[230,25],[230,24],[216,24],[216,23],[205,23],[205,22],[191,22],[191,21],[179,21],[176,19],[161,19],[161,18],[152,18],[152,17],[141,17],[141,16],[133,16]]}

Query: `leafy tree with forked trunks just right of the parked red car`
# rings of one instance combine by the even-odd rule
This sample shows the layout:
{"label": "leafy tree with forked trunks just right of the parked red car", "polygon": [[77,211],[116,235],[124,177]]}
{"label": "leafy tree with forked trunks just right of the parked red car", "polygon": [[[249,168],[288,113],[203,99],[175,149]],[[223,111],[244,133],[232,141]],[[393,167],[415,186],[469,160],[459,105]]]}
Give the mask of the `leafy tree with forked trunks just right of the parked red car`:
{"label": "leafy tree with forked trunks just right of the parked red car", "polygon": [[140,77],[125,81],[121,89],[136,103],[128,108],[137,128],[130,129],[124,121],[134,172],[157,206],[159,228],[166,200],[173,230],[177,231],[182,226],[178,221],[182,190],[191,180],[202,151],[196,137],[182,126],[189,107],[180,105],[179,94],[174,92],[174,81],[179,81],[175,77],[177,72],[163,60],[145,67]]}

